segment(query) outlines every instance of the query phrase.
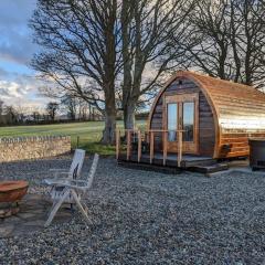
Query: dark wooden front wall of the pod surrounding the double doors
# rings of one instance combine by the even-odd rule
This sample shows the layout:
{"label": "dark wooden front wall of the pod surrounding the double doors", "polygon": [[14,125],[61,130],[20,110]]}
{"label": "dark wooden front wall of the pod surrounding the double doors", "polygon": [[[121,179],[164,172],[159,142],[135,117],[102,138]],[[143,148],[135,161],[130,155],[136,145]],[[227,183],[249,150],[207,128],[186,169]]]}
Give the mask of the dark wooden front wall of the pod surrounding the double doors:
{"label": "dark wooden front wall of the pod surrounding the double doors", "polygon": [[[183,153],[197,153],[202,156],[213,156],[214,151],[214,120],[211,107],[203,93],[192,81],[182,78],[182,85],[178,82],[169,84],[167,89],[157,97],[157,104],[152,106],[148,129],[168,129],[166,103],[174,102],[195,102],[195,121],[193,145],[183,142]],[[161,139],[162,141],[162,139]],[[178,152],[178,144],[168,142],[168,152]]]}

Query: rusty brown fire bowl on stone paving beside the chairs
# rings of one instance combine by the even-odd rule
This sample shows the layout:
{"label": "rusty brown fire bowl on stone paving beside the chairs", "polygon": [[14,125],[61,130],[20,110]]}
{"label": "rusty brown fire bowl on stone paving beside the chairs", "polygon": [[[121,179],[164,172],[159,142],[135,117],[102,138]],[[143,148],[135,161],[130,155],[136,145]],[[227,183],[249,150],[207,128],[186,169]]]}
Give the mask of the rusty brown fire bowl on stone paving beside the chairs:
{"label": "rusty brown fire bowl on stone paving beside the chairs", "polygon": [[28,188],[29,182],[24,180],[0,182],[0,218],[19,212],[18,202],[25,195]]}

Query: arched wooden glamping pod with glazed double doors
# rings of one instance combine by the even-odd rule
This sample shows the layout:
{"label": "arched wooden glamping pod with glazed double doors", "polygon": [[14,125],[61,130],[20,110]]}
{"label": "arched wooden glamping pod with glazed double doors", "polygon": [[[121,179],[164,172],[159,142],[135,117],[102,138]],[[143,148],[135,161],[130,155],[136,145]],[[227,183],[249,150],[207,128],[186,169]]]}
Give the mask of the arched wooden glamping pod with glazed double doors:
{"label": "arched wooden glamping pod with glazed double doors", "polygon": [[[245,157],[248,138],[265,137],[265,94],[254,87],[193,72],[177,72],[152,105],[148,131],[167,131],[167,152],[178,152],[177,130],[183,130],[183,155]],[[156,148],[163,148],[157,136]]]}

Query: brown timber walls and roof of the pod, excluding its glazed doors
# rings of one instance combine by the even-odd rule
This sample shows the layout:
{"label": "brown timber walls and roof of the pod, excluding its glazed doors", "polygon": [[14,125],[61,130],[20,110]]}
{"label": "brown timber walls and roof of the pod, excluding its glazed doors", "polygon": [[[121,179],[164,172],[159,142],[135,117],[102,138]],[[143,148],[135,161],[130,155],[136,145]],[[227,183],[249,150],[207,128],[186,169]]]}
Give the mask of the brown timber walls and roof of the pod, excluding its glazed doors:
{"label": "brown timber walls and roof of the pod, excluding its glazed doors", "polygon": [[[189,100],[195,94],[199,95],[198,155],[214,158],[247,156],[248,139],[265,138],[264,93],[251,86],[183,71],[172,76],[157,96],[148,129],[166,129],[165,104],[173,103],[178,97]],[[160,141],[165,142],[165,139]],[[183,152],[188,151],[184,141],[182,148]],[[162,145],[162,152],[169,150],[169,142],[167,150]]]}

